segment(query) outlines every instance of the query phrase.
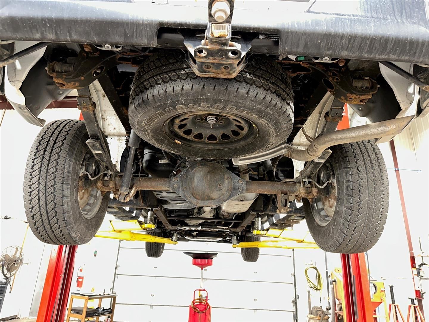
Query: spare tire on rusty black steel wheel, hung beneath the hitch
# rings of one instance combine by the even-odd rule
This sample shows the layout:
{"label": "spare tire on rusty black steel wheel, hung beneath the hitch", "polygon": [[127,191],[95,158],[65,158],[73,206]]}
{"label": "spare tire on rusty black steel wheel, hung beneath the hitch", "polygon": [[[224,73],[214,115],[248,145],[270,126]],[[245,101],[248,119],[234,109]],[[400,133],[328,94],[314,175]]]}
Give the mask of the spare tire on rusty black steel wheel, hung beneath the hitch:
{"label": "spare tire on rusty black steel wheel, hung beneath the hitch", "polygon": [[183,156],[234,158],[283,143],[293,126],[290,80],[253,55],[234,79],[196,76],[183,52],[160,52],[134,76],[130,125],[148,143]]}

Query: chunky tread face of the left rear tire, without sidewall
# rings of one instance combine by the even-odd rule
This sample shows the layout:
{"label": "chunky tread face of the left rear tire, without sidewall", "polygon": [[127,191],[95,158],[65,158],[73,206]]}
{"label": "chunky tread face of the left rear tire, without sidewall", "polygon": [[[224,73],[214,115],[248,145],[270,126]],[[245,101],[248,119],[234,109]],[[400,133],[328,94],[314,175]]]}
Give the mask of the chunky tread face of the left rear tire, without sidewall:
{"label": "chunky tread face of the left rear tire, without sidewall", "polygon": [[46,125],[34,140],[24,173],[24,208],[36,237],[54,245],[85,243],[69,222],[71,218],[70,164],[85,122],[57,120]]}

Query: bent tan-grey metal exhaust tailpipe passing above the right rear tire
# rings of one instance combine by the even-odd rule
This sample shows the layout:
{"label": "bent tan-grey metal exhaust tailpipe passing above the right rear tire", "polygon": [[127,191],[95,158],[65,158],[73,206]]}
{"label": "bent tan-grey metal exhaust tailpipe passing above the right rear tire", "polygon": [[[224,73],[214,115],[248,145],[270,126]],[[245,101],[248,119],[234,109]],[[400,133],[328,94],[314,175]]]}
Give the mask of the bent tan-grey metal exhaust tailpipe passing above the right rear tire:
{"label": "bent tan-grey metal exhaust tailpipe passing above the right rear tire", "polygon": [[400,118],[393,118],[387,121],[356,126],[355,128],[347,128],[326,133],[317,137],[305,150],[283,143],[265,152],[233,158],[233,163],[251,164],[275,158],[279,155],[285,155],[288,158],[298,161],[311,161],[320,156],[322,152],[330,146],[362,140],[378,139],[399,134],[413,118],[414,115],[409,115]]}

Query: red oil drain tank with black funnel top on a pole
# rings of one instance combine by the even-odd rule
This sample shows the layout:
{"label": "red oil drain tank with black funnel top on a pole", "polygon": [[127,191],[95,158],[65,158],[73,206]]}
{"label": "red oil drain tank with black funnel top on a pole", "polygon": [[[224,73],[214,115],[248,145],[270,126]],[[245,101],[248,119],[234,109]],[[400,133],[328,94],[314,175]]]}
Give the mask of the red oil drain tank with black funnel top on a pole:
{"label": "red oil drain tank with black funnel top on a pole", "polygon": [[[200,288],[193,292],[193,299],[189,306],[188,322],[211,322],[211,306],[208,304],[208,292],[202,288],[202,273],[205,267],[213,264],[213,258],[218,253],[184,252],[184,254],[192,257],[192,264],[201,268]],[[198,297],[195,296],[196,292],[198,292]],[[203,296],[204,292],[205,296]]]}

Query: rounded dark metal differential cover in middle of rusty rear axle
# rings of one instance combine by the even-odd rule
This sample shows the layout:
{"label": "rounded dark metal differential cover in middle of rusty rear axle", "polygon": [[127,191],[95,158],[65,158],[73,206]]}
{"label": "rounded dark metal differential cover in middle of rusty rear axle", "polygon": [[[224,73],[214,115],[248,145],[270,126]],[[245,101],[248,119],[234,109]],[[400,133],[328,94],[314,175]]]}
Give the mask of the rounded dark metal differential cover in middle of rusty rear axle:
{"label": "rounded dark metal differential cover in middle of rusty rear axle", "polygon": [[170,188],[195,207],[217,207],[244,193],[246,182],[218,163],[196,161],[172,179]]}

